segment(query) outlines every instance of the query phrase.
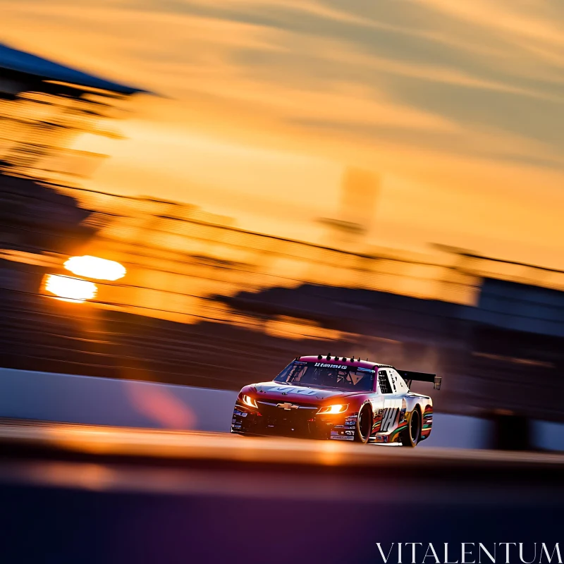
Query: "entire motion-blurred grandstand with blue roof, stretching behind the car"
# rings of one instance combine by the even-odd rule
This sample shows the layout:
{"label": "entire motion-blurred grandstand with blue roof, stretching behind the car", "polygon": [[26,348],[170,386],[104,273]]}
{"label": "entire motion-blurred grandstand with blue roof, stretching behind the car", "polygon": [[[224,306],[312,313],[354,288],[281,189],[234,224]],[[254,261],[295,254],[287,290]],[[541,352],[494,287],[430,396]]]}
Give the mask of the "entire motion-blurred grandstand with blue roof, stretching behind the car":
{"label": "entire motion-blurred grandstand with blue roof, stretching behind the car", "polygon": [[[441,411],[564,420],[564,272],[462,250],[355,252],[350,238],[279,238],[84,190],[84,163],[102,156],[71,140],[117,135],[98,124],[136,92],[0,46],[1,366],[238,389],[308,351],[355,354],[439,372]],[[77,254],[128,276],[93,302],[47,296],[44,276]]]}

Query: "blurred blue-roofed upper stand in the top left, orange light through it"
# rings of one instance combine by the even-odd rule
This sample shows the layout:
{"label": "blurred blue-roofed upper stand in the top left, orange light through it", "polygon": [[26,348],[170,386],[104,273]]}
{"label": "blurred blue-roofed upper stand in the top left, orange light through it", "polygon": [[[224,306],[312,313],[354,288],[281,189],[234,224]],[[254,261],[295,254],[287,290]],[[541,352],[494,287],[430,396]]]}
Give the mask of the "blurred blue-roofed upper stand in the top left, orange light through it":
{"label": "blurred blue-roofed upper stand in the top left, orange light through it", "polygon": [[100,155],[74,151],[78,135],[116,136],[106,125],[136,92],[0,44],[0,171],[75,184]]}

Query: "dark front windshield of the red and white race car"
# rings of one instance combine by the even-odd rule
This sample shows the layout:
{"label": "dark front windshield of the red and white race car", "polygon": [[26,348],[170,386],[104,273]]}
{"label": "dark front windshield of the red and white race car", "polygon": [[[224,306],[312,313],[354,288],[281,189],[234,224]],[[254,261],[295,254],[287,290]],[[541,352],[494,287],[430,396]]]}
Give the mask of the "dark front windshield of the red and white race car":
{"label": "dark front windshield of the red and white race car", "polygon": [[374,374],[374,370],[369,368],[296,361],[283,369],[274,381],[354,391],[372,391]]}

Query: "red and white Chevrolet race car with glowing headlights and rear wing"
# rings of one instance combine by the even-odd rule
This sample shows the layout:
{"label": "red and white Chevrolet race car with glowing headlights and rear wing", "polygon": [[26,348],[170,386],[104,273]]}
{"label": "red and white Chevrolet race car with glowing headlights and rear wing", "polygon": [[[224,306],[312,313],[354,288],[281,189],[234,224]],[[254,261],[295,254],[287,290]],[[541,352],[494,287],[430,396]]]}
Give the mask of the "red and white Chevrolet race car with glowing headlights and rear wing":
{"label": "red and white Chevrolet race car with glowing headlights and rear wing", "polygon": [[231,432],[415,447],[429,438],[433,401],[412,381],[441,389],[441,376],[355,357],[296,357],[272,381],[239,393]]}

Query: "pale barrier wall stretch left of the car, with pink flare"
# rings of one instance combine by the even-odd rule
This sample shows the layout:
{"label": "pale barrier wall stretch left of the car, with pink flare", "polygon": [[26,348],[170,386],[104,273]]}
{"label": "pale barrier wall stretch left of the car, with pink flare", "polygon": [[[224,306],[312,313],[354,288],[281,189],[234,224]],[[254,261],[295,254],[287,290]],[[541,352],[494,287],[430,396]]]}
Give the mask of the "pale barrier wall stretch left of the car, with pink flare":
{"label": "pale barrier wall stretch left of the car, with pink flare", "polygon": [[0,417],[228,431],[237,393],[0,368]]}

